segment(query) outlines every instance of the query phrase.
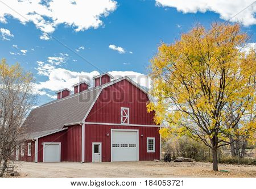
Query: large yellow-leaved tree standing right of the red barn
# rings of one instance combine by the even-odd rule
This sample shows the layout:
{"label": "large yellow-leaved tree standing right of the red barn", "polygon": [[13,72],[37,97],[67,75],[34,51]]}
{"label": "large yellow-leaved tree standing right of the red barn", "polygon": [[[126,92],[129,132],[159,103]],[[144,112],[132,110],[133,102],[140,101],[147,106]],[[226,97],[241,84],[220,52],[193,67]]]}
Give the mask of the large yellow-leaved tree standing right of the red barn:
{"label": "large yellow-leaved tree standing right of the red barn", "polygon": [[[255,132],[255,49],[243,51],[248,37],[239,24],[197,25],[174,44],[162,44],[152,58],[151,95],[155,122],[168,123],[162,137],[173,133],[203,141],[212,149],[218,170],[217,148],[229,138]],[[230,108],[231,107],[231,108]],[[250,138],[253,139],[253,138]]]}

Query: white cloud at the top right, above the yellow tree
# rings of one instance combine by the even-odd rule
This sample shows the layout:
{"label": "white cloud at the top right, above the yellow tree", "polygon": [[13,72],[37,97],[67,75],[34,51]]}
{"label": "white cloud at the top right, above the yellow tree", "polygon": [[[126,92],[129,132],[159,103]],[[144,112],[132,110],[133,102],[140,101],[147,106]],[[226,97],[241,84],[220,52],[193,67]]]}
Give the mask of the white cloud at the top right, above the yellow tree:
{"label": "white cloud at the top right, above the yellow tree", "polygon": [[[253,2],[254,0],[156,0],[156,5],[163,7],[175,7],[177,11],[183,12],[184,14],[213,11],[220,14],[221,19],[230,20],[231,22],[239,21],[245,26],[250,26],[256,24],[256,18],[254,16],[256,3]],[[251,3],[253,3],[253,5],[243,10]],[[238,14],[238,12],[240,13]],[[234,15],[236,16],[233,18]]]}

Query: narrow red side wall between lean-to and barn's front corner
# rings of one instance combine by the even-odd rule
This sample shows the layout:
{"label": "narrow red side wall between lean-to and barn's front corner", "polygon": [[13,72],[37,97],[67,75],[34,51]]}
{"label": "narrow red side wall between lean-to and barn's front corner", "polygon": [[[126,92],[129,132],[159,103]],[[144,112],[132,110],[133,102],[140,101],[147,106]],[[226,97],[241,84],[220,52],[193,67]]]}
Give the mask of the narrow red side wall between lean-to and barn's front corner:
{"label": "narrow red side wall between lean-to and barn's front corner", "polygon": [[68,127],[67,131],[67,161],[81,162],[81,125]]}

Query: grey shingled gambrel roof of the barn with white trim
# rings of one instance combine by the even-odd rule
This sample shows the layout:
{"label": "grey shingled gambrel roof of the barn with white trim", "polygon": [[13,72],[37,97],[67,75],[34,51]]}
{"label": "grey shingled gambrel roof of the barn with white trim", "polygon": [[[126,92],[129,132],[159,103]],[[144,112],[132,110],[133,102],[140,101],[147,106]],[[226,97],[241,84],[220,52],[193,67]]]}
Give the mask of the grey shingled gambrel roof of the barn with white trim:
{"label": "grey shingled gambrel roof of the barn with white trim", "polygon": [[[133,85],[147,94],[145,89],[128,77],[115,79],[104,85],[93,87],[62,99],[53,100],[52,102],[35,108],[30,112],[26,121],[24,121],[23,127],[26,129],[26,133],[30,135],[30,138],[36,138],[47,135],[47,133],[61,130],[65,125],[81,123],[86,119],[86,116],[89,114],[102,89],[122,81],[123,79],[133,83]],[[150,98],[149,95],[148,98]]]}

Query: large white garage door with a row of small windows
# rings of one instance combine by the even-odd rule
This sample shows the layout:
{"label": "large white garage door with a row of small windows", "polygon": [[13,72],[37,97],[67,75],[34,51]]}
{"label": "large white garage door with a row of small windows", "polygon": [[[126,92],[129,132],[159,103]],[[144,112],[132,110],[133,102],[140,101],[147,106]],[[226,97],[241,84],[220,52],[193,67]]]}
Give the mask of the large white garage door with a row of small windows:
{"label": "large white garage door with a row of small windows", "polygon": [[138,130],[112,131],[112,161],[139,161]]}

